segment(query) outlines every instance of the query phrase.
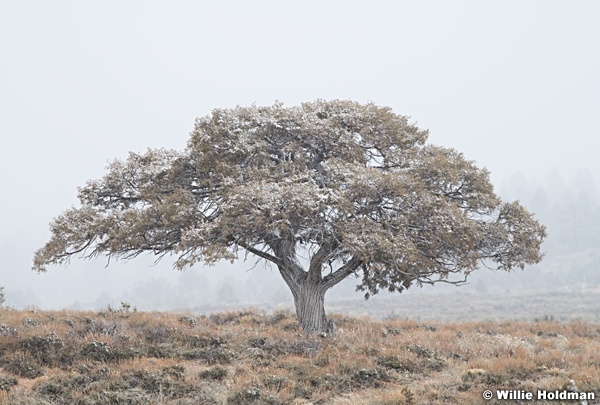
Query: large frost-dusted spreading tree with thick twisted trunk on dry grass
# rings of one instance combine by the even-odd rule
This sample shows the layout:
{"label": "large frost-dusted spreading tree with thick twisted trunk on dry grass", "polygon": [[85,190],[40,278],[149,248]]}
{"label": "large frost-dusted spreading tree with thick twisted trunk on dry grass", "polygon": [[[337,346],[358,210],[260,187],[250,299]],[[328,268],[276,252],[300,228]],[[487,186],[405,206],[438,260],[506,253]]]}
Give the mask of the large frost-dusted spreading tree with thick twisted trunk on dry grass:
{"label": "large frost-dusted spreading tree with thick twisted trunk on dry grass", "polygon": [[130,153],[81,187],[33,268],[143,252],[174,255],[179,269],[255,256],[278,269],[302,328],[329,332],[325,293],[349,276],[369,298],[539,262],[544,226],[427,136],[351,101],[216,109],[183,151]]}

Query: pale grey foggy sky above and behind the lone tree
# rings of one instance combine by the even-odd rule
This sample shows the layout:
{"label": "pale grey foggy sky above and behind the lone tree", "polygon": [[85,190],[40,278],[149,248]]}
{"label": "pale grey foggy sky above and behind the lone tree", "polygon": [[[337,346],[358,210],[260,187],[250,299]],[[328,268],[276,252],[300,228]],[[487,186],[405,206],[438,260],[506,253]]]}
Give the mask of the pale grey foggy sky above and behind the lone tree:
{"label": "pale grey foggy sky above and behind the lone tree", "polygon": [[175,277],[150,259],[30,268],[78,186],[183,149],[218,107],[372,101],[496,185],[598,180],[599,20],[597,1],[0,2],[0,285],[58,307]]}

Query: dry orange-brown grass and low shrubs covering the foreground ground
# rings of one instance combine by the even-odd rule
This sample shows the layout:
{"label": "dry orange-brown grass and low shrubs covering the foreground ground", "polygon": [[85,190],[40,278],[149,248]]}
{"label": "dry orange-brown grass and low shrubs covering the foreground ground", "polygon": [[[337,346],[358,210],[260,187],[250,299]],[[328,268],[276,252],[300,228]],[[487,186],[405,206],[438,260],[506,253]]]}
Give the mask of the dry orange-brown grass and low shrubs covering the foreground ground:
{"label": "dry orange-brown grass and low shrubs covering the foreground ground", "polygon": [[322,338],[287,312],[1,310],[0,403],[482,404],[502,388],[600,403],[599,324],[333,317]]}

